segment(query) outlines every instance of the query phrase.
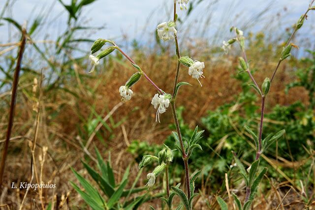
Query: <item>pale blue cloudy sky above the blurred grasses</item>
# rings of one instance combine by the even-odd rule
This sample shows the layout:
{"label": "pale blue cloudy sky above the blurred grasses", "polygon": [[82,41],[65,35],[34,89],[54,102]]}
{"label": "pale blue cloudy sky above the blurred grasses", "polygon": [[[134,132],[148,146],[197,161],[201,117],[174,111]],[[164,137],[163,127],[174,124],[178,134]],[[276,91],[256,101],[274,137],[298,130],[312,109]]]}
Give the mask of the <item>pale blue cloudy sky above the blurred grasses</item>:
{"label": "pale blue cloudy sky above the blurred grasses", "polygon": [[[7,0],[0,0],[0,10],[2,10]],[[154,31],[157,24],[171,19],[171,7],[173,0],[96,0],[86,6],[82,11],[82,24],[84,26],[104,26],[103,30],[95,30],[89,37],[96,39],[126,38],[128,40],[150,39],[147,31]],[[196,0],[190,0],[190,2]],[[66,27],[67,14],[58,0],[10,0],[15,2],[9,10],[6,10],[3,17],[12,17],[17,22],[23,23],[27,20],[32,23],[32,19],[37,15],[48,15],[48,27],[45,37],[54,38]],[[63,0],[68,4],[70,0]],[[310,0],[203,0],[187,19],[187,23],[200,23],[202,17],[209,17],[209,30],[215,31],[222,26],[221,20],[228,24],[240,24],[247,22],[256,14],[269,5],[268,12],[264,14],[251,30],[264,30],[264,27],[276,25],[274,22],[277,14],[281,14],[280,20],[285,25],[293,25],[300,15],[306,10]],[[209,7],[209,5],[211,5]],[[284,9],[285,8],[285,9]],[[187,11],[178,11],[179,17],[185,16]],[[311,12],[310,12],[311,13]],[[315,12],[313,12],[315,13]],[[315,18],[310,14],[310,19]],[[311,21],[305,24],[308,30],[314,27]],[[315,22],[315,21],[313,21]],[[3,22],[2,22],[3,23]],[[187,26],[189,26],[187,24]],[[202,31],[200,26],[198,29]],[[226,26],[228,31],[230,26]],[[274,26],[279,27],[281,26]],[[0,27],[0,42],[5,43],[18,37],[14,37],[15,30],[11,26]],[[192,26],[193,28],[193,26]],[[205,29],[203,29],[205,30]],[[44,34],[37,34],[38,39]],[[126,36],[127,35],[127,36]],[[192,34],[194,35],[194,34]],[[200,34],[198,34],[200,35]],[[211,34],[208,34],[211,35]]]}

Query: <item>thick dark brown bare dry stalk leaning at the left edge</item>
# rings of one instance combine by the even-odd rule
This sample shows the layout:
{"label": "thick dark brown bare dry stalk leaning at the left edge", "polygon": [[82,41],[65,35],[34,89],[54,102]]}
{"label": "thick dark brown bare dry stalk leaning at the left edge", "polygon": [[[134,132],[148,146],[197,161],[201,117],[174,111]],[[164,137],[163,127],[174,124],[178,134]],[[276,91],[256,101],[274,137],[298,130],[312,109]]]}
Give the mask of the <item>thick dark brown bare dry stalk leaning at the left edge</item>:
{"label": "thick dark brown bare dry stalk leaning at the left edge", "polygon": [[15,108],[15,101],[16,101],[16,93],[18,89],[18,83],[19,83],[19,75],[21,70],[21,62],[23,57],[23,52],[26,44],[26,30],[22,30],[22,40],[20,45],[20,50],[18,54],[18,60],[16,63],[16,68],[14,72],[13,77],[13,84],[12,84],[12,94],[11,94],[11,103],[10,103],[10,110],[9,110],[9,121],[8,121],[8,127],[6,132],[6,138],[4,142],[4,147],[2,151],[2,157],[1,157],[1,165],[0,165],[0,192],[1,192],[1,186],[3,181],[3,173],[4,173],[4,167],[5,167],[5,159],[8,153],[8,147],[9,147],[9,141],[11,137],[12,127],[13,127],[13,118],[14,118],[14,108]]}

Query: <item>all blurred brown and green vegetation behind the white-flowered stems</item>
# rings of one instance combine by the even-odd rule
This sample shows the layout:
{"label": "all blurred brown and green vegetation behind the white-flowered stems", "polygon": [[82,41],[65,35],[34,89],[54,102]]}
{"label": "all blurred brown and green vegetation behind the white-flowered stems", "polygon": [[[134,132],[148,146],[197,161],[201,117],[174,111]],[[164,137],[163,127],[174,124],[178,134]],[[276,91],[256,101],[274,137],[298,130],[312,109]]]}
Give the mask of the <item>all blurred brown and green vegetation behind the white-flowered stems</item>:
{"label": "all blurred brown and green vegetation behind the white-flowered stems", "polygon": [[[86,7],[93,6],[94,1],[56,0],[56,3],[63,6],[67,19],[63,22],[64,30],[58,31],[54,39],[45,38],[46,30],[52,23],[47,21],[48,16],[41,14],[28,21],[29,40],[22,62],[13,134],[4,174],[5,183],[0,196],[0,204],[7,204],[11,209],[20,207],[26,193],[25,190],[11,189],[10,186],[11,182],[29,181],[31,177],[30,142],[36,132],[37,165],[40,166],[42,147],[47,146],[43,180],[57,185],[55,189],[44,189],[45,207],[88,208],[71,186],[71,182],[74,186],[79,183],[76,179],[78,174],[72,173],[71,168],[90,180],[97,189],[96,182],[88,175],[91,175],[91,171],[86,170],[85,163],[93,168],[96,165],[99,167],[102,165],[99,156],[106,160],[106,170],[112,171],[113,187],[116,180],[116,183],[125,184],[126,188],[131,189],[130,193],[125,190],[122,196],[138,201],[135,206],[140,206],[140,209],[148,209],[148,204],[154,207],[161,205],[158,199],[163,193],[160,186],[151,191],[143,191],[147,172],[139,172],[138,162],[144,154],[156,155],[163,143],[174,148],[171,136],[171,131],[175,130],[173,119],[171,115],[165,114],[161,123],[155,122],[155,110],[150,104],[155,90],[144,81],[133,88],[134,97],[131,101],[121,102],[118,88],[125,84],[133,73],[133,68],[120,54],[111,54],[97,66],[93,74],[87,73],[91,68],[89,49],[94,42],[91,36],[103,29],[89,27],[91,21],[82,15]],[[14,3],[14,0],[3,1],[3,7],[0,8],[0,30],[6,31],[8,25],[9,29],[14,28],[10,30],[11,41],[0,43],[0,147],[5,138],[19,31],[23,25],[15,20],[14,14],[7,16]],[[178,27],[186,31],[185,35],[181,33],[183,37],[179,37],[182,55],[204,60],[206,78],[202,81],[203,88],[193,83],[194,88],[185,87],[181,90],[178,96],[178,106],[181,107],[178,115],[184,136],[190,136],[197,124],[205,130],[200,141],[203,151],[195,150],[189,159],[189,166],[191,173],[202,169],[202,176],[196,180],[201,196],[196,199],[195,209],[215,209],[215,195],[226,196],[225,173],[233,180],[230,188],[242,195],[244,183],[238,181],[237,170],[231,166],[234,164],[231,150],[241,154],[245,164],[250,163],[254,158],[254,148],[251,136],[244,131],[244,126],[256,129],[259,123],[257,97],[247,85],[248,75],[239,73],[239,52],[232,49],[230,54],[223,55],[221,41],[229,35],[228,29],[232,25],[237,24],[246,31],[247,54],[254,74],[261,83],[276,67],[283,41],[295,21],[287,23],[282,15],[285,10],[279,8],[281,12],[276,19],[282,27],[266,24],[267,28],[257,30],[256,25],[271,6],[261,8],[247,17],[246,21],[235,19],[234,22],[224,18],[235,8],[236,5],[232,4],[224,10],[225,16],[222,15],[220,27],[210,35],[212,6],[218,1],[207,2],[209,11],[198,17],[203,21],[196,23],[193,21],[195,19],[189,19],[189,15],[193,15],[202,3],[205,1],[192,1]],[[305,3],[305,8],[308,3]],[[195,30],[197,28],[199,30]],[[132,41],[127,41],[126,36],[119,39],[122,40],[122,47],[127,48],[131,57],[157,81],[158,86],[170,91],[175,75],[173,70],[177,64],[174,49],[172,45],[161,43],[156,38],[154,28],[145,33],[154,38],[148,42],[142,40],[142,37]],[[259,193],[260,199],[255,203],[257,209],[277,208],[287,192],[289,194],[282,208],[303,209],[304,206],[314,205],[315,44],[314,35],[310,34],[314,34],[314,31],[307,28],[295,37],[294,43],[300,50],[295,50],[294,56],[281,66],[268,97],[264,135],[281,129],[285,129],[286,134],[263,156],[261,167],[268,167],[269,178],[264,179],[264,184],[259,189],[263,193]],[[120,45],[119,42],[117,44]],[[182,70],[181,81],[190,80],[185,70]],[[171,184],[183,182],[183,165],[179,153],[170,167],[173,177]],[[111,178],[107,176],[106,179]],[[128,181],[125,183],[126,179]],[[162,182],[162,178],[159,179],[161,181],[157,183]],[[143,194],[141,202],[148,203],[140,205],[140,200],[136,198]],[[101,195],[109,196],[106,190]],[[24,208],[35,209],[40,206],[40,202],[38,192],[31,190],[26,196]],[[129,204],[125,198],[124,207]]]}

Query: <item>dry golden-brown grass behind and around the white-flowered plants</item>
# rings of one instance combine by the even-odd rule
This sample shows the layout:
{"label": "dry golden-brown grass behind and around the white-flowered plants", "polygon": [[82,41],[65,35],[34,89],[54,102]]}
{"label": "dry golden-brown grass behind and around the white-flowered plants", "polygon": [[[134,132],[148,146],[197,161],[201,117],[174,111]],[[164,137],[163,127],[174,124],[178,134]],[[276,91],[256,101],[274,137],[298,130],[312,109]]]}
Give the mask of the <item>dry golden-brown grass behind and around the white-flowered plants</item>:
{"label": "dry golden-brown grass behind and around the white-flowered plants", "polygon": [[[196,57],[202,56],[197,53],[193,54]],[[158,56],[157,54],[146,57],[135,54],[134,57],[151,79],[157,81],[159,87],[163,87],[165,91],[172,90],[175,59],[170,60],[169,55]],[[255,75],[258,83],[261,84],[265,76],[272,73],[276,63],[265,62],[257,57],[254,55],[251,59],[258,60],[252,65],[259,67],[259,71]],[[218,60],[215,57],[204,57],[204,60],[207,68],[204,73],[206,78],[201,80],[202,88],[197,81],[189,78],[187,68],[182,67],[181,69],[180,81],[189,81],[194,87],[184,87],[180,90],[177,106],[185,105],[183,115],[191,127],[208,110],[214,110],[224,103],[233,102],[235,95],[241,91],[239,82],[231,76],[236,71],[237,58],[229,57],[225,60]],[[173,119],[169,111],[161,116],[161,123],[155,122],[156,111],[150,104],[155,90],[144,79],[134,86],[132,100],[120,104],[118,88],[134,72],[131,65],[111,60],[105,69],[97,69],[93,75],[94,78],[83,77],[82,75],[85,75],[86,72],[80,66],[75,66],[75,69],[76,78],[70,79],[64,88],[76,93],[78,97],[63,90],[44,92],[44,87],[38,87],[32,96],[27,94],[32,92],[32,83],[20,83],[19,85],[16,118],[12,140],[9,144],[3,192],[0,197],[0,204],[8,205],[9,209],[19,209],[26,193],[25,190],[11,189],[11,182],[31,180],[32,153],[30,145],[32,145],[31,142],[33,142],[36,132],[37,121],[37,113],[33,111],[33,105],[39,98],[39,91],[43,91],[43,96],[39,100],[38,137],[37,147],[34,151],[34,163],[37,166],[36,172],[42,176],[42,180],[45,183],[56,183],[57,187],[43,189],[41,199],[38,191],[30,190],[22,209],[40,209],[40,200],[44,202],[44,205],[53,202],[55,208],[59,206],[57,209],[63,210],[82,205],[82,199],[69,184],[69,181],[76,182],[70,167],[87,175],[80,160],[93,159],[95,157],[94,147],[102,152],[105,159],[108,158],[109,152],[111,153],[117,180],[122,178],[126,166],[133,162],[130,180],[134,179],[138,170],[132,155],[126,152],[129,143],[137,139],[161,144],[171,133],[168,125],[173,122]],[[285,84],[291,82],[293,78],[292,68],[289,63],[285,63],[279,70],[277,81],[270,92],[267,110],[270,110],[275,104],[288,105],[297,100],[307,103],[307,93],[304,90],[292,89],[290,94],[284,94]],[[1,100],[7,103],[9,94],[1,96]],[[119,104],[118,109],[112,110],[117,104]],[[1,109],[3,114],[0,117],[0,139],[2,140],[6,130],[7,107]],[[98,134],[102,136],[104,143],[101,143],[99,136],[96,135],[89,148],[84,150],[82,145],[85,145],[89,139],[84,126],[87,125],[87,119],[91,117],[91,113],[95,112],[101,118],[106,118],[111,110],[112,115],[106,123],[112,132],[101,126]],[[126,119],[124,119],[125,116],[127,116]],[[115,123],[121,120],[123,123],[116,126]],[[83,139],[83,137],[86,138]],[[40,159],[43,158],[43,147],[48,147],[48,152],[41,173]],[[142,177],[138,185],[144,185],[145,182],[145,177]],[[261,197],[256,199],[254,209],[276,209],[279,204],[280,209],[303,208],[300,193],[294,188],[288,191],[289,183],[273,183],[273,189],[260,194]],[[287,192],[288,194],[285,196]],[[206,201],[216,203],[213,195],[201,195],[195,209],[207,209]],[[293,203],[296,207],[292,206]],[[85,207],[82,208],[85,209]],[[147,208],[148,206],[144,206],[142,209]]]}

